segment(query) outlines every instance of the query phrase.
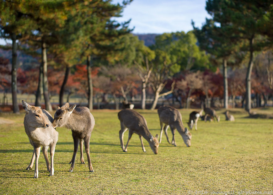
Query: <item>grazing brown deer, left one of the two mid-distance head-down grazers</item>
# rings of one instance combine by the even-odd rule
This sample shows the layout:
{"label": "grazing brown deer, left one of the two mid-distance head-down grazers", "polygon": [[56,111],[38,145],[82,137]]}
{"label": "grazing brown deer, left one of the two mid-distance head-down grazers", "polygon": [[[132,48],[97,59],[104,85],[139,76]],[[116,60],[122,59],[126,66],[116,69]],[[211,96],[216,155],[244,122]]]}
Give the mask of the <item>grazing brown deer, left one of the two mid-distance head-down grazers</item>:
{"label": "grazing brown deer, left one of the two mid-distance head-down grazers", "polygon": [[[153,137],[147,127],[147,122],[142,115],[134,110],[126,108],[118,113],[118,118],[120,120],[120,145],[124,152],[127,152],[128,143],[132,137],[132,134],[136,133],[139,135],[143,152],[146,152],[146,150],[143,145],[142,137],[148,141],[153,153],[158,153],[158,134]],[[123,136],[127,129],[129,129],[129,136],[127,144],[124,148]]]}

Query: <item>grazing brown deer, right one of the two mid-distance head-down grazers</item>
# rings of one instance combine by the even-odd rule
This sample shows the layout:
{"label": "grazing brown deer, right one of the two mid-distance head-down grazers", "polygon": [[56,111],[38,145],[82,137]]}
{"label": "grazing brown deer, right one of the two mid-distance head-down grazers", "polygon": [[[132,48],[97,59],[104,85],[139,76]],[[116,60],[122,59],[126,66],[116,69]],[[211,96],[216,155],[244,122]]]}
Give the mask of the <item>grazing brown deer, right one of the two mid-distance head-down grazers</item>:
{"label": "grazing brown deer, right one of the two mid-distance head-down grazers", "polygon": [[[177,131],[182,136],[184,143],[187,145],[187,147],[190,147],[191,133],[187,129],[187,127],[184,128],[181,113],[176,108],[172,106],[160,106],[158,108],[158,116],[159,116],[160,127],[161,127],[159,143],[161,143],[162,141],[163,129],[169,144],[171,143],[169,141],[169,137],[167,134],[168,127],[170,127],[171,132],[173,134],[172,145],[176,146],[176,143],[174,140],[174,133],[175,133],[175,129],[177,129]],[[164,128],[163,128],[163,123],[165,124]]]}

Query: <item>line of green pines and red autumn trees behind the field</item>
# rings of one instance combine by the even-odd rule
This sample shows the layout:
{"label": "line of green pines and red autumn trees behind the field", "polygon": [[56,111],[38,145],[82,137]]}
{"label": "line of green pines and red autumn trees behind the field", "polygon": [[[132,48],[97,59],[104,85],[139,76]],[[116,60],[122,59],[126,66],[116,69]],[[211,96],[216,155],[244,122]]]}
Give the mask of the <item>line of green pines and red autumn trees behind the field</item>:
{"label": "line of green pines and red autumn trees behind the field", "polygon": [[[43,95],[47,110],[52,110],[52,91],[59,93],[60,105],[64,93],[82,93],[90,110],[98,94],[111,94],[115,99],[120,95],[127,103],[129,93],[141,93],[142,109],[146,108],[146,92],[151,90],[151,109],[160,96],[171,93],[181,106],[185,99],[186,107],[193,96],[218,96],[224,97],[227,108],[229,95],[233,100],[242,95],[249,112],[251,94],[267,99],[272,93],[270,1],[208,0],[206,10],[212,18],[201,29],[192,22],[194,30],[157,35],[149,47],[131,34],[130,21],[115,21],[130,2],[2,1],[1,37],[12,40],[13,112],[19,112],[17,81],[27,82],[22,86],[33,85],[24,91],[36,94],[35,106],[40,106]],[[38,58],[39,70],[18,69],[17,49]],[[8,72],[7,61],[0,62]],[[222,74],[217,68],[221,65]],[[238,71],[238,67],[243,68]],[[1,80],[3,90],[9,82]]]}

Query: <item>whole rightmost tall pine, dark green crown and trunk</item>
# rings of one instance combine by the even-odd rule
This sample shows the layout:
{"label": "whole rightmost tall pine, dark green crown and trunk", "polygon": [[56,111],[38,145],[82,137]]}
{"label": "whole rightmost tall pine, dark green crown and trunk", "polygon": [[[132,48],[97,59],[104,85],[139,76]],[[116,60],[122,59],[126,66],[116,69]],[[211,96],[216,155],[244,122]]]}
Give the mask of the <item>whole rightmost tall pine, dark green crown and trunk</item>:
{"label": "whole rightmost tall pine, dark green crown and trunk", "polygon": [[241,50],[249,52],[249,62],[246,73],[246,111],[251,111],[251,72],[253,68],[254,51],[260,51],[270,44],[260,37],[260,27],[264,25],[264,16],[271,9],[270,1],[224,1],[208,0],[206,10],[213,15],[218,24],[225,24],[239,35],[242,40]]}

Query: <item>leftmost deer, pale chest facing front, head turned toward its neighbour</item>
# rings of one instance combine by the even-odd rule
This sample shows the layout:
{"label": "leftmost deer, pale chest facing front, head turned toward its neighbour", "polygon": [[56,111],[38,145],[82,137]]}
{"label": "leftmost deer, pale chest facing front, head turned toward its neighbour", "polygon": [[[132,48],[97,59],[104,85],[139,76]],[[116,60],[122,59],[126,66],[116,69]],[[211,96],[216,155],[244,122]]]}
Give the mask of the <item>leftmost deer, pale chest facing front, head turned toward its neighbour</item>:
{"label": "leftmost deer, pale chest facing front, head turned toward its neighbour", "polygon": [[[35,158],[35,173],[34,178],[38,178],[38,161],[40,156],[40,149],[43,146],[43,154],[45,157],[47,171],[49,171],[49,176],[54,175],[54,153],[56,143],[58,141],[58,132],[53,128],[52,121],[53,118],[51,114],[42,110],[41,107],[30,106],[24,100],[22,100],[22,105],[26,114],[24,116],[24,128],[27,136],[29,137],[29,142],[33,146],[34,151],[30,161],[29,166],[26,170],[30,170],[34,164]],[[47,150],[50,148],[51,165],[49,164]]]}

